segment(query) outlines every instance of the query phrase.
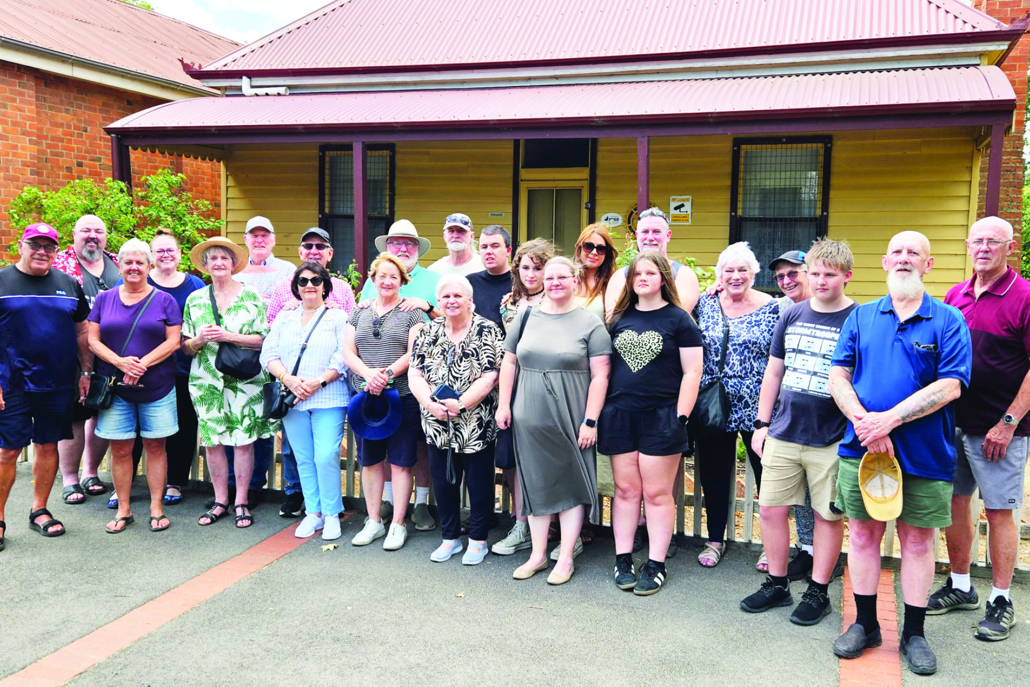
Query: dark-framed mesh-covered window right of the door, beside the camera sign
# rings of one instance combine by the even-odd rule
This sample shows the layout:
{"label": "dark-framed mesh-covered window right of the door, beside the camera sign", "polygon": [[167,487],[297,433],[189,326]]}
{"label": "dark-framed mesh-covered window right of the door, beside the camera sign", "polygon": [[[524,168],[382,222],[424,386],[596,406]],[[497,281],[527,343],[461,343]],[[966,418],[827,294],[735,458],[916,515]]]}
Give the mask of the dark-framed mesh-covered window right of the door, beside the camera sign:
{"label": "dark-framed mesh-covered window right of the door, beside the camera sign", "polygon": [[756,288],[778,295],[766,266],[826,236],[831,145],[829,136],[733,140],[729,240],[751,244]]}

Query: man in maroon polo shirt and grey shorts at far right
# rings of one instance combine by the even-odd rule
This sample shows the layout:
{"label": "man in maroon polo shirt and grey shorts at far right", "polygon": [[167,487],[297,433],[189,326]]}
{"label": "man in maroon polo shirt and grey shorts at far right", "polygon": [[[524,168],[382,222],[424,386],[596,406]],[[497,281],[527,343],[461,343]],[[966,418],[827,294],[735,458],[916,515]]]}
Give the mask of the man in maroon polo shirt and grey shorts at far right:
{"label": "man in maroon polo shirt and grey shorts at far right", "polygon": [[969,388],[956,406],[958,467],[948,527],[951,577],[930,595],[927,615],[977,609],[969,581],[973,523],[972,492],[991,524],[994,587],[987,613],[975,626],[977,640],[1008,637],[1016,614],[1008,598],[1020,537],[1014,512],[1023,507],[1027,449],[1030,447],[1030,282],[1006,264],[1012,254],[1012,226],[985,217],[969,229],[966,250],[973,277],[948,291],[945,303],[962,311],[972,338]]}

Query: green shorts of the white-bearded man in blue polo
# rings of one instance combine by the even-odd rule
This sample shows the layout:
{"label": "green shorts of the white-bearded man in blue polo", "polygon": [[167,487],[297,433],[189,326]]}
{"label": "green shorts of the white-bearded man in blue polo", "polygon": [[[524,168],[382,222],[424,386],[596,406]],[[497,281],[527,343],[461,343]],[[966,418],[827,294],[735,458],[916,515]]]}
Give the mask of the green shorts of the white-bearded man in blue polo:
{"label": "green shorts of the white-bearded man in blue polo", "polygon": [[[837,470],[837,495],[834,504],[849,518],[871,520],[865,512],[862,490],[858,487],[861,458],[840,456]],[[947,527],[952,523],[952,483],[925,477],[902,475],[901,515],[898,520],[914,527]]]}

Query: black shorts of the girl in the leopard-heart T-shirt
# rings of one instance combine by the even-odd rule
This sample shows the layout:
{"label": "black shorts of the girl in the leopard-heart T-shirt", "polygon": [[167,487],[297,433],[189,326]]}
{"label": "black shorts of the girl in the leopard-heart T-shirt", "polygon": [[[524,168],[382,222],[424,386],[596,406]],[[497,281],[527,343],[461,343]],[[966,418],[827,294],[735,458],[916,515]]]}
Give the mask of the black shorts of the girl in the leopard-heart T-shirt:
{"label": "black shorts of the girl in the leopard-heart T-shirt", "polygon": [[597,451],[605,455],[633,453],[673,455],[687,450],[687,428],[680,424],[676,404],[656,410],[624,410],[611,404],[597,418]]}

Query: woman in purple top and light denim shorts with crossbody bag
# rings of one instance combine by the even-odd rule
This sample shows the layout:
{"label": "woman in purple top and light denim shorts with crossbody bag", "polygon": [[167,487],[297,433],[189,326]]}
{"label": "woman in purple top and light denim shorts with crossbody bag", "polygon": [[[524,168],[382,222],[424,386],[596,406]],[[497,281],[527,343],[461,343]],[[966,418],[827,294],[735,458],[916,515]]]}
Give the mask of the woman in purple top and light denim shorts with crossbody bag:
{"label": "woman in purple top and light denim shorts with crossbody bag", "polygon": [[165,438],[178,431],[172,353],[179,347],[182,312],[174,298],[147,283],[151,262],[148,245],[138,239],[126,241],[118,251],[123,284],[103,291],[89,317],[90,349],[100,358],[97,373],[118,380],[114,402],[97,419],[97,436],[111,442],[111,477],[118,497],[117,515],[106,526],[112,535],[134,520],[129,492],[137,426],[147,457],[150,529],[160,531],[171,524],[162,495],[168,471]]}

